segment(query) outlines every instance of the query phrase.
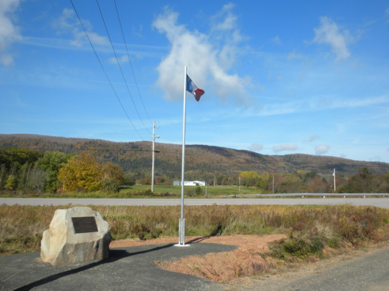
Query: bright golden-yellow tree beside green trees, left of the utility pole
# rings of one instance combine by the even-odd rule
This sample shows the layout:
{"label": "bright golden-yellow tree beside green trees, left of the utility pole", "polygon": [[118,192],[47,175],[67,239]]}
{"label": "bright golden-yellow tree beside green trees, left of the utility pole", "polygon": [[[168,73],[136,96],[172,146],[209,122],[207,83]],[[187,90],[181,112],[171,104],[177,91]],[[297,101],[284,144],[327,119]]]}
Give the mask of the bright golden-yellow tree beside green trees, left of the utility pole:
{"label": "bright golden-yellow tree beside green trees, left of the utility pole", "polygon": [[59,190],[70,192],[93,192],[101,188],[103,168],[93,151],[81,151],[59,169]]}

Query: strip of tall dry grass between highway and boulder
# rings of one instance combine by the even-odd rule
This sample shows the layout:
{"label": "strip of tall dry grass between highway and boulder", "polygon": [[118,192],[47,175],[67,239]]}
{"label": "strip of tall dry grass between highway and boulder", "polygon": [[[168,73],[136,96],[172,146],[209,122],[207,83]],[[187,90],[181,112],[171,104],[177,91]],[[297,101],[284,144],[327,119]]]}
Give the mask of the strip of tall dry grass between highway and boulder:
{"label": "strip of tall dry grass between highway and boulder", "polygon": [[[0,254],[38,251],[54,206],[0,206]],[[113,239],[177,236],[179,206],[93,206]],[[288,233],[273,245],[278,259],[320,257],[326,247],[388,240],[389,210],[342,206],[186,206],[186,235]]]}

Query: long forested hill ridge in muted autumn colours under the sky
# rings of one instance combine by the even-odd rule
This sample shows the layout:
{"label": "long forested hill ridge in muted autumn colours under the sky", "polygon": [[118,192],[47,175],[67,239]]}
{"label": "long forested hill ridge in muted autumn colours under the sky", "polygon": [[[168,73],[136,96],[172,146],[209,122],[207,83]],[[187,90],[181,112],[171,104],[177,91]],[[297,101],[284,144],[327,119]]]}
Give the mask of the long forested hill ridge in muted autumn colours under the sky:
{"label": "long forested hill ridge in muted autumn colours under the sky", "polygon": [[[103,161],[119,164],[124,172],[137,175],[151,171],[152,143],[116,143],[95,139],[64,138],[30,134],[0,134],[1,147],[22,147],[38,151],[72,153],[93,149]],[[156,176],[179,179],[181,176],[181,145],[156,143]],[[248,150],[218,146],[187,145],[185,176],[188,179],[212,180],[215,175],[237,176],[242,171],[296,173],[298,170],[330,176],[336,168],[340,175],[354,175],[361,167],[373,174],[389,172],[389,163],[363,162],[336,157],[306,154],[262,155]]]}

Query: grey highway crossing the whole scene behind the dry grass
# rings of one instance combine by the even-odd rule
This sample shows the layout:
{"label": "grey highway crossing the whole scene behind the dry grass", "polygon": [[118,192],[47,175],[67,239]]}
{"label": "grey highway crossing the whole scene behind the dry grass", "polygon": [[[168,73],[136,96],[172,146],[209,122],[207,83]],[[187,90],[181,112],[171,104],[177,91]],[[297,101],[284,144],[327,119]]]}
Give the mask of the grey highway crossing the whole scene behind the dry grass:
{"label": "grey highway crossing the whole scene behind the dry grass", "polygon": [[[186,198],[185,205],[338,205],[352,204],[389,209],[389,198]],[[181,205],[181,199],[105,199],[105,198],[0,198],[0,205]]]}

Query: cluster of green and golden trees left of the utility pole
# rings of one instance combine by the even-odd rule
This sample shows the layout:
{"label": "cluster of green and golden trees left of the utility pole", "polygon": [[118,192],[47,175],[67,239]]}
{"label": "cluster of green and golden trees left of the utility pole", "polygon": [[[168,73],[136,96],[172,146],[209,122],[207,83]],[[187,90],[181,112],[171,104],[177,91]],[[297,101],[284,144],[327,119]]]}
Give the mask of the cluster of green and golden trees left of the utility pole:
{"label": "cluster of green and golden trees left of the utility pole", "polygon": [[0,190],[37,192],[118,192],[131,184],[123,170],[102,162],[92,150],[77,154],[45,153],[23,148],[0,149]]}

